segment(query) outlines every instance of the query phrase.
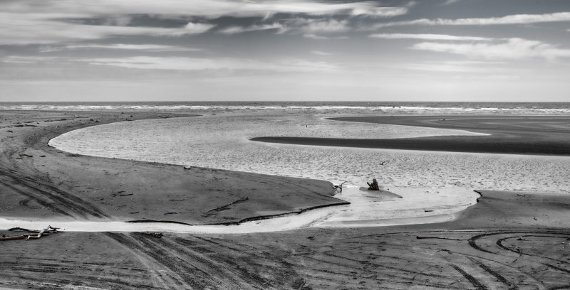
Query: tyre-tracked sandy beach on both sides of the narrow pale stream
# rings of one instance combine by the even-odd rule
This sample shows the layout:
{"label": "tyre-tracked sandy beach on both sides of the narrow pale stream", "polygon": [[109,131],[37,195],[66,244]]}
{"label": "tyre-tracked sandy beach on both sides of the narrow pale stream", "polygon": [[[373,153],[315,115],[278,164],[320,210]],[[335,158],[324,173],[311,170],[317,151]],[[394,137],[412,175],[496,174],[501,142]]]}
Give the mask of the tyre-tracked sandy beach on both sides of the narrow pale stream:
{"label": "tyre-tracked sandy beach on both sides of the narrow pale stream", "polygon": [[[51,138],[73,129],[187,114],[3,111],[1,116],[1,218],[224,225],[346,203],[333,197],[333,184],[328,181],[82,156],[47,145]],[[445,121],[430,122],[434,117],[401,117],[390,123],[388,117],[382,117],[343,121],[423,124],[491,134],[422,137],[427,141],[418,148],[407,148],[409,142],[393,139],[393,145],[373,148],[471,151],[477,147],[484,149],[475,152],[568,155],[568,128],[558,126],[567,119],[510,119],[501,122],[504,127],[494,128],[486,127],[489,117],[481,118],[487,119],[467,122],[445,117]],[[361,140],[330,140],[330,144],[318,145],[363,144]],[[494,146],[497,140],[499,146]],[[570,232],[566,223],[570,197],[473,189],[481,195],[476,205],[458,213],[455,220],[433,224],[311,227],[239,235],[162,232],[160,238],[147,232],[61,232],[39,240],[6,241],[0,250],[0,287],[570,287]],[[3,235],[18,234],[6,230],[1,230]]]}

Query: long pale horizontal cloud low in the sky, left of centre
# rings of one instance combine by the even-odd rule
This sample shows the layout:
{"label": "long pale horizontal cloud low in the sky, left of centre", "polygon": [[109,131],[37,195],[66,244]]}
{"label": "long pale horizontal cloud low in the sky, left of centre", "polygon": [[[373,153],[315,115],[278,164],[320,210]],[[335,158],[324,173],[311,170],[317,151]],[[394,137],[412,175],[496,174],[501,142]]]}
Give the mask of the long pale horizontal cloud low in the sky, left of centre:
{"label": "long pale horizontal cloud low in the sky, left of centre", "polygon": [[90,65],[109,65],[146,70],[269,70],[276,72],[330,72],[336,65],[307,60],[281,60],[271,63],[238,58],[175,58],[135,56],[129,58],[78,59]]}

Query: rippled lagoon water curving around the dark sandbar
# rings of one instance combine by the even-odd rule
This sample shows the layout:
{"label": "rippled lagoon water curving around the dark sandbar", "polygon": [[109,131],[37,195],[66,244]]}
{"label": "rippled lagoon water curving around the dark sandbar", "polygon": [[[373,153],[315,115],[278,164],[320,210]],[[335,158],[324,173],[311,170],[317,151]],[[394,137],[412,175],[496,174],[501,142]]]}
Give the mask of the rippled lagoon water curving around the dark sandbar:
{"label": "rippled lagoon water curving around the dark sandbar", "polygon": [[[50,141],[63,151],[254,173],[347,181],[346,208],[319,210],[274,229],[347,227],[449,220],[475,203],[475,189],[567,193],[570,158],[266,144],[254,136],[401,138],[473,135],[460,130],[340,122],[320,114],[225,114],[120,122],[71,131]],[[331,116],[326,116],[331,117]],[[477,135],[477,134],[475,134]],[[358,188],[377,178],[403,198]],[[429,218],[430,217],[430,218]],[[418,220],[422,218],[422,220]],[[291,217],[288,218],[291,220]],[[265,225],[260,221],[259,225]],[[258,224],[254,224],[258,225]],[[244,230],[243,225],[239,226]],[[224,227],[229,230],[228,227]],[[190,230],[190,229],[188,229]],[[253,228],[250,230],[254,230]],[[259,228],[258,228],[259,230]]]}

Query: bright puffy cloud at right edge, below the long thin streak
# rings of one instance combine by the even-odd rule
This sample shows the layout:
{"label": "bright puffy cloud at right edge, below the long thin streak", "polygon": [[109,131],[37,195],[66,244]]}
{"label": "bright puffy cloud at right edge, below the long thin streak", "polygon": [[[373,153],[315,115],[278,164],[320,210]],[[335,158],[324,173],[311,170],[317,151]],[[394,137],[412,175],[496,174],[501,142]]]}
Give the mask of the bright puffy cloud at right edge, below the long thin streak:
{"label": "bright puffy cloud at right edge, below the long thin streak", "polygon": [[522,38],[509,38],[503,43],[417,43],[415,50],[430,50],[438,53],[466,55],[470,58],[517,60],[525,58],[569,58],[570,49],[556,48],[555,45]]}

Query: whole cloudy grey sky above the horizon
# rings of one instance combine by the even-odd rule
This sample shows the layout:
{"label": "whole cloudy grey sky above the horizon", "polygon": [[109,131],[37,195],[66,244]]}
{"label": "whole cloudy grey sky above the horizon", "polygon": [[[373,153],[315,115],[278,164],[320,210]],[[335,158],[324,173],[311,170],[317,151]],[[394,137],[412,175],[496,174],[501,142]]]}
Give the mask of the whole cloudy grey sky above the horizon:
{"label": "whole cloudy grey sky above the horizon", "polygon": [[570,1],[1,0],[23,101],[570,102]]}

